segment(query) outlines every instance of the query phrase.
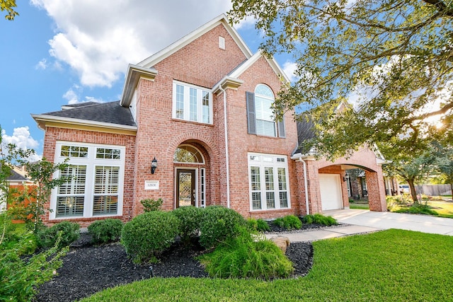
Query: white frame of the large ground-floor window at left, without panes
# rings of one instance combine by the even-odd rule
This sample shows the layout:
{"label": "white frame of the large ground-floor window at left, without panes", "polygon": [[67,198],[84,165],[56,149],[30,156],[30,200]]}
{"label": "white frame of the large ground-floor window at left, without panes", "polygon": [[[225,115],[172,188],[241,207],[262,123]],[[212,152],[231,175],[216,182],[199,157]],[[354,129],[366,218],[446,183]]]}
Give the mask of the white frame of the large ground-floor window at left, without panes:
{"label": "white frame of the large ground-floor window at left, without panes", "polygon": [[[101,145],[101,144],[86,144],[75,143],[71,141],[57,141],[55,145],[55,163],[63,163],[67,156],[61,156],[62,146],[81,146],[88,147],[88,156],[86,157],[69,157],[67,162],[69,165],[86,165],[86,185],[85,185],[85,200],[84,200],[84,215],[83,216],[56,216],[57,215],[57,193],[58,187],[52,190],[50,198],[50,219],[80,219],[80,218],[93,218],[93,217],[109,217],[109,216],[122,216],[123,204],[123,187],[124,187],[124,173],[125,173],[125,146],[115,145]],[[113,158],[96,158],[96,151],[101,149],[119,149],[120,159]],[[93,215],[93,200],[94,200],[94,180],[96,175],[96,166],[109,166],[119,168],[119,183],[118,183],[118,199],[117,199],[117,213]],[[59,177],[59,171],[54,173],[54,177]]]}

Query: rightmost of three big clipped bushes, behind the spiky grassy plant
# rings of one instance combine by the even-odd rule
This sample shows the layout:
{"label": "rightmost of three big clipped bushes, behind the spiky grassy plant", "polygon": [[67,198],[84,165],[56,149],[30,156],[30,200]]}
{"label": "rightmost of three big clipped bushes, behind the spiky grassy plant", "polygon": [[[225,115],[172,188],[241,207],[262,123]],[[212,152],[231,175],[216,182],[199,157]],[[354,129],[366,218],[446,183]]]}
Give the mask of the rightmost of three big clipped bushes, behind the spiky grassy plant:
{"label": "rightmost of three big clipped bushes, behind the spiky grassy plant", "polygon": [[246,219],[233,209],[206,207],[201,216],[200,244],[204,248],[215,247],[226,238],[237,236],[237,226],[246,225]]}

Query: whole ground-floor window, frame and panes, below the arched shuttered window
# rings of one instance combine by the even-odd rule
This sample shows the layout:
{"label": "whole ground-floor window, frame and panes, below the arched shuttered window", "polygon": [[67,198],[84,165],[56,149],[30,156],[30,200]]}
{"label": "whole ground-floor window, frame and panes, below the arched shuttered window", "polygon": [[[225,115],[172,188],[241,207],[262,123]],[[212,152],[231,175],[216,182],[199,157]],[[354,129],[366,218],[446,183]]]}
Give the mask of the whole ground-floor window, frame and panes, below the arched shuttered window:
{"label": "whole ground-floor window, frame and panes, below the arched shuttered window", "polygon": [[248,171],[251,210],[290,207],[286,156],[248,153]]}

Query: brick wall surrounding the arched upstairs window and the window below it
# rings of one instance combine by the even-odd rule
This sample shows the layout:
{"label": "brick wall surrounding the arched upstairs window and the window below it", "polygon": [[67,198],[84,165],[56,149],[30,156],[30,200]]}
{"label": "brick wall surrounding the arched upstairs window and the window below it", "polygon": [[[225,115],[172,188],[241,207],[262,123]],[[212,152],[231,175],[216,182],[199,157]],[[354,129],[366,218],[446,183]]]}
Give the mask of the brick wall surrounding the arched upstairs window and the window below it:
{"label": "brick wall surrounding the arched upstairs window and the window below it", "polygon": [[[250,68],[239,76],[243,84],[237,91],[227,92],[228,124],[229,124],[229,158],[234,166],[230,169],[231,207],[243,216],[258,218],[275,218],[287,214],[299,214],[299,194],[297,187],[297,173],[294,162],[290,159],[294,147],[297,145],[297,128],[292,120],[291,112],[285,115],[286,138],[263,137],[248,134],[246,92],[254,92],[258,84],[269,86],[274,95],[280,91],[280,79],[271,69],[268,62],[261,57]],[[287,156],[289,173],[289,190],[291,209],[251,211],[248,187],[248,152],[270,153]]]}

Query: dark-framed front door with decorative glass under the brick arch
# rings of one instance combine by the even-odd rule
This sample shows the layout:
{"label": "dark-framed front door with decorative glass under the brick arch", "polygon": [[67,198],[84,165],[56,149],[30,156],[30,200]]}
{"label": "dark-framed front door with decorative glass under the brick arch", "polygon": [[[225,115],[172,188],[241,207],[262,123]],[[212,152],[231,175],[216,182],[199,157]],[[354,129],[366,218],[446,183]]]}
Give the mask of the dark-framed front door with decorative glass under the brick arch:
{"label": "dark-framed front door with decorative glass under the brick arch", "polygon": [[195,170],[176,169],[176,207],[195,206]]}

